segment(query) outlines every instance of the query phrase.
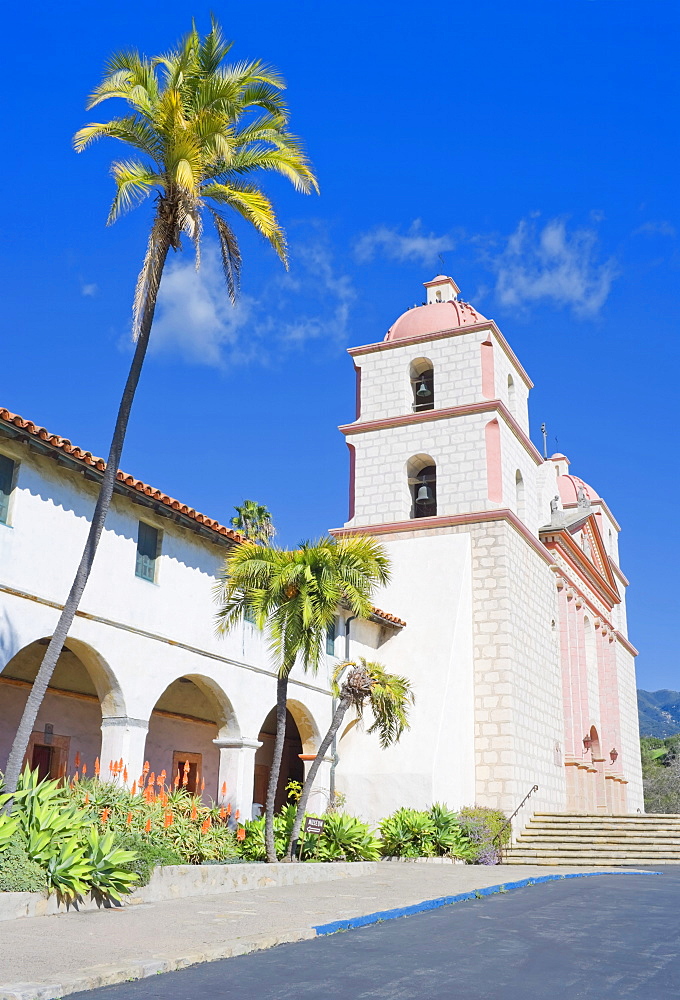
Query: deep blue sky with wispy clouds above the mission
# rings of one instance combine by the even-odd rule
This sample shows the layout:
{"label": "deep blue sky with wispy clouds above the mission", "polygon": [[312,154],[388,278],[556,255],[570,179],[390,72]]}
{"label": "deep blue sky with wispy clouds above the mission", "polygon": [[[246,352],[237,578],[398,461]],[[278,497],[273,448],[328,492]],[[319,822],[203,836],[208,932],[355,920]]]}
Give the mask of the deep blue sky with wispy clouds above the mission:
{"label": "deep blue sky with wispy clouds above the mission", "polygon": [[268,181],[291,269],[239,229],[236,311],[209,251],[199,279],[173,259],[123,467],[222,520],[265,502],[283,544],[340,525],[345,348],[422,301],[441,253],[536,383],[534,440],[545,421],[623,526],[640,686],[680,688],[675,2],[13,5],[0,405],[106,453],[151,203],[107,229],[116,146],[70,138],[112,51],[211,8],[286,77],[321,195]]}

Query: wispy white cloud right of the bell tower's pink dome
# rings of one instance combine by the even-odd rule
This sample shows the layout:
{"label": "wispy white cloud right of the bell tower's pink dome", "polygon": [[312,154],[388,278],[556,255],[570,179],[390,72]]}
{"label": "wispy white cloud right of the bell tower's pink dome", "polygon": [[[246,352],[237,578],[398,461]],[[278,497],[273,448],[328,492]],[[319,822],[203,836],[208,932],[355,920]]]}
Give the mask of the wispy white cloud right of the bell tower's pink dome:
{"label": "wispy white cloud right of the bell tower's pink dome", "polygon": [[595,315],[617,276],[613,259],[597,260],[597,240],[594,229],[569,232],[563,219],[542,229],[523,219],[500,253],[486,255],[496,272],[496,296],[505,306],[544,299],[579,316]]}

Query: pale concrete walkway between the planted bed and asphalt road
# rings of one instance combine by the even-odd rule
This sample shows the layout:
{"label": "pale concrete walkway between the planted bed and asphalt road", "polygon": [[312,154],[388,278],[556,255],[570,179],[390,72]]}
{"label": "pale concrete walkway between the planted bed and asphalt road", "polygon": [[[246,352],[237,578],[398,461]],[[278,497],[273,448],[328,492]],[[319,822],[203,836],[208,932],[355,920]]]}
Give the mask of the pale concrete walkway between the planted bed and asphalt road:
{"label": "pale concrete walkway between the planted bed and asphalt road", "polygon": [[319,925],[377,911],[522,879],[605,871],[612,869],[386,862],[361,878],[6,921],[0,1000],[51,1000],[306,940]]}

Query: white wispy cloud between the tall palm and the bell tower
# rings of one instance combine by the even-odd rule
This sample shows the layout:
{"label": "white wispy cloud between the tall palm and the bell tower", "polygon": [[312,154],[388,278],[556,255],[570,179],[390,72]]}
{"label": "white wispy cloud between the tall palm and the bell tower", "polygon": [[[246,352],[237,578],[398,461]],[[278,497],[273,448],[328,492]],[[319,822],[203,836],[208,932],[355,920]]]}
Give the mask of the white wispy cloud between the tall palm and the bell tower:
{"label": "white wispy cloud between the tall palm and the bell tower", "polygon": [[310,339],[342,341],[355,293],[319,240],[291,247],[292,268],[277,271],[262,297],[240,294],[232,306],[217,249],[206,241],[198,271],[179,256],[167,265],[151,336],[155,353],[224,368],[266,363],[277,351]]}

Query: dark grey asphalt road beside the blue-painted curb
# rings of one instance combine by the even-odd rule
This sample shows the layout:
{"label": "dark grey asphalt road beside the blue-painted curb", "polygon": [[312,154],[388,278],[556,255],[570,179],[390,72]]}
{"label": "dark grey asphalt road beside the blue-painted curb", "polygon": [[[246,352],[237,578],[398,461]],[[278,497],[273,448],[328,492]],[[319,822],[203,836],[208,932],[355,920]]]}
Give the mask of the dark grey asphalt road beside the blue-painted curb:
{"label": "dark grey asphalt road beside the blue-painted curb", "polygon": [[77,994],[86,1000],[675,1000],[680,871],[548,882]]}

